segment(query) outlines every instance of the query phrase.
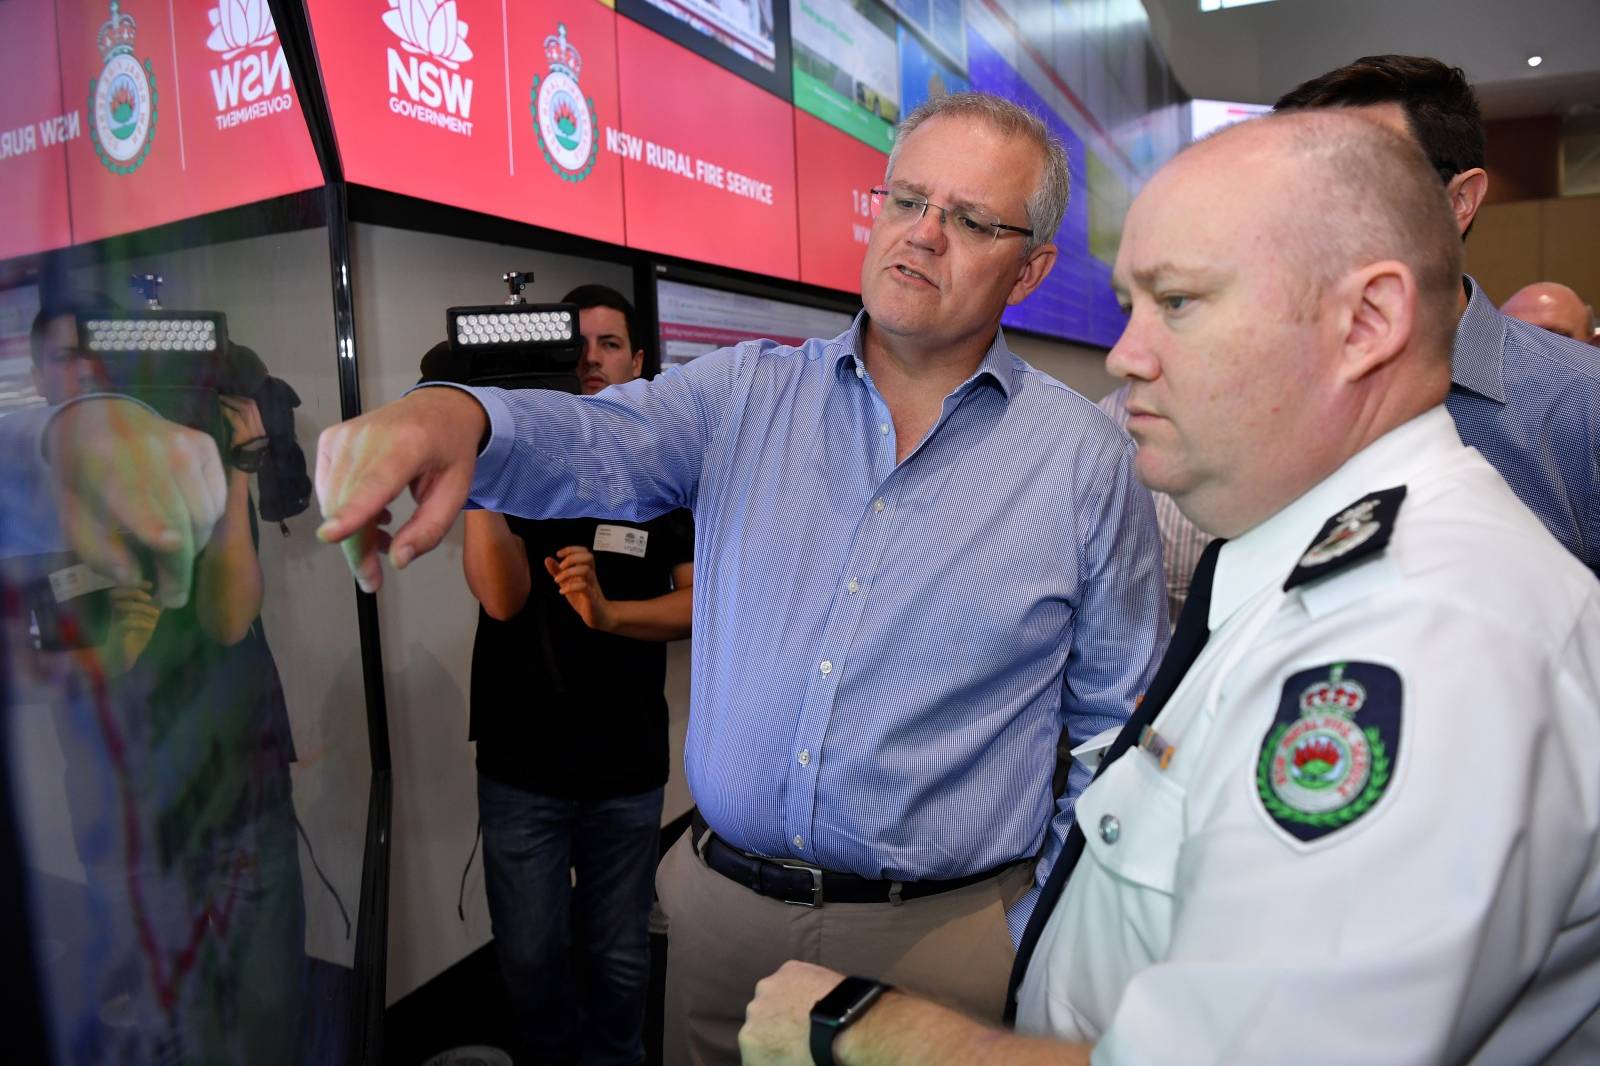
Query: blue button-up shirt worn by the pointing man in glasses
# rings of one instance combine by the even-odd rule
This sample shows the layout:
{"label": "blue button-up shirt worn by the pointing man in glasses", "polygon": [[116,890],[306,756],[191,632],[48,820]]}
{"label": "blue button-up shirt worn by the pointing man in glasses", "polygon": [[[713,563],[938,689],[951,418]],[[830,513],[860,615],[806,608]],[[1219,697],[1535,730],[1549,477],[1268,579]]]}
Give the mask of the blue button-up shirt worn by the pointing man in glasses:
{"label": "blue button-up shirt worn by the pointing man in glasses", "polygon": [[1165,648],[1150,495],[1133,443],[1003,335],[896,464],[864,323],[594,397],[474,389],[472,503],[694,511],[685,762],[734,847],[946,879],[1040,853],[1053,824],[1042,880],[1090,776],[1053,800],[1062,728],[1120,725]]}

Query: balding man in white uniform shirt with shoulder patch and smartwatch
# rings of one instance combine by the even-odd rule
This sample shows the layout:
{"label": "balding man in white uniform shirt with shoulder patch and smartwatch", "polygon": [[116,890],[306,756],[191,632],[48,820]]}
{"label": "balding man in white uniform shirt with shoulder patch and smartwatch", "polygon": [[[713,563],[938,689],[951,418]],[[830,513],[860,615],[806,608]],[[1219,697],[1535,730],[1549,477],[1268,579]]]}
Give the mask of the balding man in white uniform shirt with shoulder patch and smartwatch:
{"label": "balding man in white uniform shirt with shoulder patch and smartwatch", "polygon": [[787,964],[746,1063],[1600,1061],[1600,586],[1442,407],[1459,277],[1349,114],[1150,181],[1107,365],[1139,477],[1232,539],[1078,800],[1021,1034]]}

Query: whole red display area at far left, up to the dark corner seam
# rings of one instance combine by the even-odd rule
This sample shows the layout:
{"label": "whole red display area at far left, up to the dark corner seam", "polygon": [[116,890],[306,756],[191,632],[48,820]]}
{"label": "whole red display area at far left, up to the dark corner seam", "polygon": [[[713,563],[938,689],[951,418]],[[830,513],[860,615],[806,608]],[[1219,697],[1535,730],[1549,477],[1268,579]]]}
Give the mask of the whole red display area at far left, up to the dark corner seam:
{"label": "whole red display area at far left, up to the dark corner seam", "polygon": [[322,184],[266,0],[0,3],[0,259]]}

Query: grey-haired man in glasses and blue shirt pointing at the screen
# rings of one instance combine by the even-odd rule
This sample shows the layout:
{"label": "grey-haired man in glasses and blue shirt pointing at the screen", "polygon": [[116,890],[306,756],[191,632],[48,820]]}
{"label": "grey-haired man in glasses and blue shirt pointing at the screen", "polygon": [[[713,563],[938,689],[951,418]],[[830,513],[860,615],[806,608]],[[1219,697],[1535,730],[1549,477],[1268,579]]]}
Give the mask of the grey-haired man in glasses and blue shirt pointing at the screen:
{"label": "grey-haired man in glasses and blue shirt pointing at the screen", "polygon": [[320,536],[365,587],[469,496],[530,519],[694,511],[704,824],[658,877],[667,1061],[738,1061],[755,981],[792,957],[870,959],[1002,1015],[1088,779],[1074,765],[1056,800],[1058,739],[1125,720],[1166,640],[1133,443],[1000,333],[1054,262],[1066,182],[1037,117],[931,101],[874,190],[843,335],[594,397],[430,387],[323,434]]}

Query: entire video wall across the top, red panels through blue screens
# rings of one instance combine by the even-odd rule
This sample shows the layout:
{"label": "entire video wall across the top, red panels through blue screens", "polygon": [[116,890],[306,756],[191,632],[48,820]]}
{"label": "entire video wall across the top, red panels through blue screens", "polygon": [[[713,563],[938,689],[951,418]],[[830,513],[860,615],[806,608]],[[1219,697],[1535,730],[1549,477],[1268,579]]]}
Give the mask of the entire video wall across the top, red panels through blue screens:
{"label": "entire video wall across the top, red panels through blue screens", "polygon": [[[1184,138],[1138,0],[307,8],[352,182],[842,291],[894,123],[930,93],[1018,99],[1067,144],[1074,197],[1053,277],[1006,323],[1094,344],[1122,328],[1126,206]],[[0,61],[32,74],[0,99],[22,194],[0,258],[318,181],[266,0],[0,3]]]}

